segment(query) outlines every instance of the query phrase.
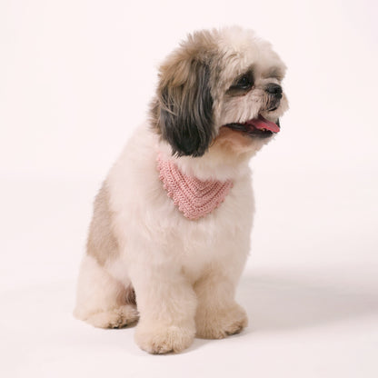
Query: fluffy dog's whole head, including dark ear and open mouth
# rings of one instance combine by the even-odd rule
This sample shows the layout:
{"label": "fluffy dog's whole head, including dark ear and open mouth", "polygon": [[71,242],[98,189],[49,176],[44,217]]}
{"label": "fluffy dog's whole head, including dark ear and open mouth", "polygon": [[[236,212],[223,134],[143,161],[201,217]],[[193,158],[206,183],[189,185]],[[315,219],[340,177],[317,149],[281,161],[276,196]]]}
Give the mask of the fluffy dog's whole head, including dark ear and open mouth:
{"label": "fluffy dog's whole head, including dark ear and open mouth", "polygon": [[153,123],[177,156],[216,148],[253,154],[280,130],[284,74],[271,45],[252,31],[196,32],[160,68]]}

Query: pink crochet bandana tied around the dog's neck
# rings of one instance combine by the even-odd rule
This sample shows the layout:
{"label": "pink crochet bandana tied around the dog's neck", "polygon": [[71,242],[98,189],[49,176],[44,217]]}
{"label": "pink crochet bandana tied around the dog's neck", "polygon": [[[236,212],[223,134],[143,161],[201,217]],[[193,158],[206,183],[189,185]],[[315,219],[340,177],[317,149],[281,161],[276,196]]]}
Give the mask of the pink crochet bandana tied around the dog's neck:
{"label": "pink crochet bandana tied around the dog's neck", "polygon": [[224,202],[224,198],[233,187],[231,180],[201,181],[196,177],[183,174],[172,161],[157,158],[159,178],[168,196],[174,204],[191,220],[210,214]]}

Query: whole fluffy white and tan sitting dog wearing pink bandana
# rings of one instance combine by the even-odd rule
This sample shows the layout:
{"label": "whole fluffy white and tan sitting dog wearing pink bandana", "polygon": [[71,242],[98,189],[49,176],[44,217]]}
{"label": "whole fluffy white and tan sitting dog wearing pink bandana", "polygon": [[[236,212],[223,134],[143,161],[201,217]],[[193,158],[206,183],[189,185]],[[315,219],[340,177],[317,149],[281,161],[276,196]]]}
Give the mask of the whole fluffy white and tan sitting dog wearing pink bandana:
{"label": "whole fluffy white and tan sitting dog wearing pink bandana", "polygon": [[167,57],[150,120],[94,202],[75,316],[134,323],[149,353],[247,325],[235,287],[250,249],[249,159],[280,130],[285,66],[239,27],[199,31]]}

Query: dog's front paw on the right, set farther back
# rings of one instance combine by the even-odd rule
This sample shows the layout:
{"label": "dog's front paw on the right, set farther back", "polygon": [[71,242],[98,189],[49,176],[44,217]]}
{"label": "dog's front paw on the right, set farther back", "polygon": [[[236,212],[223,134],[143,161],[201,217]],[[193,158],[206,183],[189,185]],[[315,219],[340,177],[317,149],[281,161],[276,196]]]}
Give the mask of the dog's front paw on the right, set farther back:
{"label": "dog's front paw on the right, set farther back", "polygon": [[197,336],[203,339],[223,339],[240,333],[248,325],[247,315],[239,304],[219,310],[199,309],[195,316]]}

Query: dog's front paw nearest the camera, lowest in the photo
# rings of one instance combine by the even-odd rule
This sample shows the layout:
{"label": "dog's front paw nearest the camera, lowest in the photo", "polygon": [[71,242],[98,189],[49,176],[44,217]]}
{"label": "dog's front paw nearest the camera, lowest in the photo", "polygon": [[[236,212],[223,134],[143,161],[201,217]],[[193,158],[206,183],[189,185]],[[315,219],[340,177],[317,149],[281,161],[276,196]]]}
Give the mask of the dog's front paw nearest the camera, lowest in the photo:
{"label": "dog's front paw nearest the camera, lowest in the photo", "polygon": [[179,353],[193,343],[194,333],[194,327],[170,325],[152,329],[139,324],[135,330],[135,342],[148,353]]}

